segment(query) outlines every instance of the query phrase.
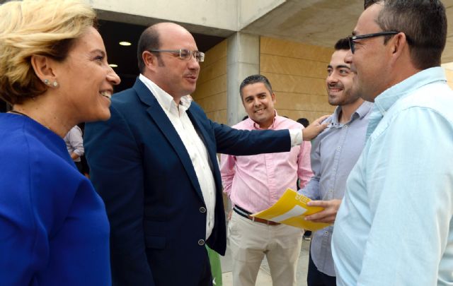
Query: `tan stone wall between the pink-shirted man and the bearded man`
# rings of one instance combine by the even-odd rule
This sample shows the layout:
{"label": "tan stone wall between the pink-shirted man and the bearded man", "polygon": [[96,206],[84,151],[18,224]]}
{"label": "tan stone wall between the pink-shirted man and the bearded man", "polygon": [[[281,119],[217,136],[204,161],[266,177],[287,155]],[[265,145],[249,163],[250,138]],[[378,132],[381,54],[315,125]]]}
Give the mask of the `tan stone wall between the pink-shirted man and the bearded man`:
{"label": "tan stone wall between the pink-shirted man and the bearded man", "polygon": [[333,49],[260,37],[260,73],[273,85],[279,115],[309,121],[331,114],[326,70]]}

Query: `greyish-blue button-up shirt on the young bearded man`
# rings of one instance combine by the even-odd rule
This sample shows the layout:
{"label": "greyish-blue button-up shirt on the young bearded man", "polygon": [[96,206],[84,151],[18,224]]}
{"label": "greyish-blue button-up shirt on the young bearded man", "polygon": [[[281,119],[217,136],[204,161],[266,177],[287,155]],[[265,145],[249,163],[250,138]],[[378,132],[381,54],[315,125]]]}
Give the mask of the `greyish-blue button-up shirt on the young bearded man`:
{"label": "greyish-blue button-up shirt on the young bearded man", "polygon": [[[345,194],[346,179],[365,146],[365,132],[373,104],[363,102],[352,113],[350,121],[338,122],[341,107],[328,119],[331,124],[311,141],[311,170],[314,176],[302,192],[313,200],[341,199]],[[331,254],[333,227],[314,232],[311,239],[311,259],[322,273],[335,276]]]}

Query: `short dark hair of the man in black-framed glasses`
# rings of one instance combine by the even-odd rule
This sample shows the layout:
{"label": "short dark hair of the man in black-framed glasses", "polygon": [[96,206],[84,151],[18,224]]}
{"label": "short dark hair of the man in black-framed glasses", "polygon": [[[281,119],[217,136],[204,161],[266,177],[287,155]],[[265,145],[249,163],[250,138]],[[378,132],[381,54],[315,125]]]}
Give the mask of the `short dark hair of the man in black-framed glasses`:
{"label": "short dark hair of the man in black-framed glasses", "polygon": [[416,68],[440,66],[447,40],[447,16],[440,0],[365,0],[365,9],[372,4],[384,5],[376,20],[382,30],[406,34]]}

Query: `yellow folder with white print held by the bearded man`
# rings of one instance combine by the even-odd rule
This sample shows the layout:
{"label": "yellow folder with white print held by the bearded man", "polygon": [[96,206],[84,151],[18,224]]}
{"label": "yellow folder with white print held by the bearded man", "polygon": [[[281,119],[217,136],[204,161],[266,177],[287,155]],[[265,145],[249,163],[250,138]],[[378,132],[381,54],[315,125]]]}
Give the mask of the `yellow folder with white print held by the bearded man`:
{"label": "yellow folder with white print held by the bearded man", "polygon": [[297,193],[292,189],[287,189],[283,196],[267,210],[254,213],[253,217],[280,222],[293,227],[300,227],[304,230],[321,230],[330,224],[321,222],[309,222],[304,220],[306,215],[319,213],[323,208],[306,205],[311,201],[306,196]]}

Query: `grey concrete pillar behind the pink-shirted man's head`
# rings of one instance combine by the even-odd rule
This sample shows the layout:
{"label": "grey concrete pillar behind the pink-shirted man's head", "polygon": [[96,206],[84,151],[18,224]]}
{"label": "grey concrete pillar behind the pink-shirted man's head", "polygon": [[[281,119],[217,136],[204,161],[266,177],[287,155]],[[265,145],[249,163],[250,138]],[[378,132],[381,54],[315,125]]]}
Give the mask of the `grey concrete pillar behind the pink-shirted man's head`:
{"label": "grey concrete pillar behind the pink-shirted man's head", "polygon": [[244,78],[260,72],[260,37],[236,32],[228,38],[226,55],[227,70],[227,118],[234,125],[246,115],[243,109],[239,85]]}

